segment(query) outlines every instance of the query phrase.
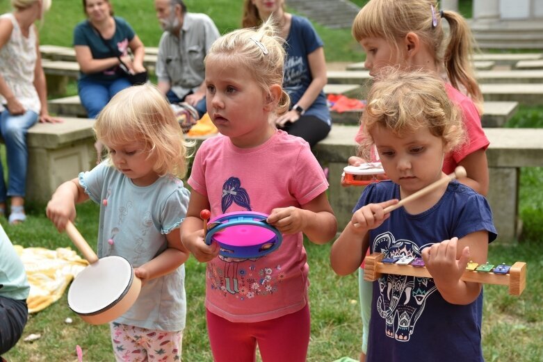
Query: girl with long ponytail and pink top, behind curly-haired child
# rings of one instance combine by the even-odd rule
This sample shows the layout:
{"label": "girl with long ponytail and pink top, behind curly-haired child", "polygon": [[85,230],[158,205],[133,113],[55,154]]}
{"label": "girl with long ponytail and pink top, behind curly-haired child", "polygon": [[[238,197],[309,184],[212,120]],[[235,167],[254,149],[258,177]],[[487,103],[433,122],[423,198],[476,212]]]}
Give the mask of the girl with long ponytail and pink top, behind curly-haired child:
{"label": "girl with long ponytail and pink top, behind curly-haired child", "polygon": [[[488,192],[489,177],[486,149],[489,141],[480,122],[483,94],[473,75],[471,31],[462,15],[439,11],[435,0],[372,0],[359,11],[352,24],[352,35],[366,52],[364,65],[372,76],[383,67],[424,69],[444,74],[448,97],[462,110],[467,142],[444,158],[443,171],[453,172],[457,165],[466,169],[467,177],[459,179],[481,195]],[[449,36],[444,33],[444,22]],[[466,94],[463,94],[465,92]],[[363,137],[364,124],[356,136]],[[366,161],[352,156],[350,165]],[[362,308],[362,355],[367,346],[371,283],[364,282],[359,270],[359,293]]]}

